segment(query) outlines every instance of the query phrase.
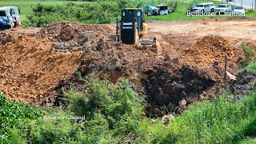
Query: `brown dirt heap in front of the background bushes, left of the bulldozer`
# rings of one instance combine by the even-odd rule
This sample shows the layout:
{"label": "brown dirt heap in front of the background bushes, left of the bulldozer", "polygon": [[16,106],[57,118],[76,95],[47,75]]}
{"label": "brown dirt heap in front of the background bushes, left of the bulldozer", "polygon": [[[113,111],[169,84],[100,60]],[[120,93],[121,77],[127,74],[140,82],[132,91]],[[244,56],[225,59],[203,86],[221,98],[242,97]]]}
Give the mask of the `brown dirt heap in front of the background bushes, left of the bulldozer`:
{"label": "brown dirt heap in front of the background bushes, left of the bulldozer", "polygon": [[[53,42],[67,42],[77,38],[79,34],[98,34],[113,33],[109,26],[105,25],[86,25],[78,22],[54,22],[43,28],[39,35]],[[114,33],[113,33],[114,34]]]}

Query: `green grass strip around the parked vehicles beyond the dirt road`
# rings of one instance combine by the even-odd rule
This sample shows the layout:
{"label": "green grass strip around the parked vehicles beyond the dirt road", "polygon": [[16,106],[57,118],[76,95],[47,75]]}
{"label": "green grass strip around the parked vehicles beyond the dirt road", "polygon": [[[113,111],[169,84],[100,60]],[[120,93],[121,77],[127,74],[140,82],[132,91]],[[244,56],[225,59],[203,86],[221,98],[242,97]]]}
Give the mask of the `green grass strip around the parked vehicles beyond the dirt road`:
{"label": "green grass strip around the parked vehicles beyond the dirt road", "polygon": [[[215,6],[218,6],[218,4],[222,3],[222,2],[210,1],[210,0],[197,0],[197,1],[194,0],[192,2],[194,4],[198,3],[198,2],[214,2]],[[241,17],[219,16],[218,14],[216,16],[203,16],[203,17],[202,16],[194,16],[194,17],[190,18],[190,16],[186,15],[186,10],[190,8],[192,2],[178,1],[177,10],[174,11],[174,13],[171,13],[168,15],[148,16],[148,17],[146,17],[146,20],[193,21],[193,20],[198,20],[198,19],[202,19],[202,18],[241,18]],[[256,12],[246,10],[246,18],[256,18]]]}

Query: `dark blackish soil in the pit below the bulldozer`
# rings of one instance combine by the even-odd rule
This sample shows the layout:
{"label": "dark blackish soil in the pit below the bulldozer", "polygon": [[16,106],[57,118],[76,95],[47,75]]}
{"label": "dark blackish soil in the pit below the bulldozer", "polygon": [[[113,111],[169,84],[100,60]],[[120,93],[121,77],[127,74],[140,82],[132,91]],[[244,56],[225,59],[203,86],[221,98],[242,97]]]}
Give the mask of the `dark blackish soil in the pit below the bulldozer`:
{"label": "dark blackish soil in the pit below the bulldozer", "polygon": [[182,66],[176,74],[158,69],[149,70],[146,75],[147,79],[141,81],[150,104],[146,114],[154,117],[174,112],[182,99],[194,102],[202,91],[214,86],[214,81],[206,73],[189,66]]}

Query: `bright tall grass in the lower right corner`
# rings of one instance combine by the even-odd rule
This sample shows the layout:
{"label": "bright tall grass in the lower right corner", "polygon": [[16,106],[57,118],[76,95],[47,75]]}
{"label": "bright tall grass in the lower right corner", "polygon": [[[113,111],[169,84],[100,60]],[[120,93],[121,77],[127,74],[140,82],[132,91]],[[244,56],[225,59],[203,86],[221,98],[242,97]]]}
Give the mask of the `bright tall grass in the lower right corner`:
{"label": "bright tall grass in the lower right corner", "polygon": [[254,133],[256,127],[246,131],[246,126],[255,121],[255,114],[255,92],[241,100],[224,92],[214,102],[199,102],[191,106],[190,110],[170,123],[170,129],[177,131],[175,135],[178,142],[235,142],[246,137],[246,132]]}

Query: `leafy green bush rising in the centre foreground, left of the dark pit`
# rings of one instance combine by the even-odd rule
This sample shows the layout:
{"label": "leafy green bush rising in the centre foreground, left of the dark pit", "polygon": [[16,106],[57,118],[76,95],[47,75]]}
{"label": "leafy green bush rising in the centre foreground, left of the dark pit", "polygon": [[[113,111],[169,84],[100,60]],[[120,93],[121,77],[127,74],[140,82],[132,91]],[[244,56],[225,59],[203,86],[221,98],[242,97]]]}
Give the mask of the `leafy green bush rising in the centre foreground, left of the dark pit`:
{"label": "leafy green bush rising in the centre foreground, left of the dark pit", "polygon": [[136,131],[138,121],[142,118],[144,97],[138,96],[127,80],[114,85],[107,80],[89,78],[85,91],[78,93],[69,90],[65,93],[70,112],[78,116],[85,115],[86,120],[95,118],[94,114],[102,114],[109,129],[116,129],[123,134]]}

